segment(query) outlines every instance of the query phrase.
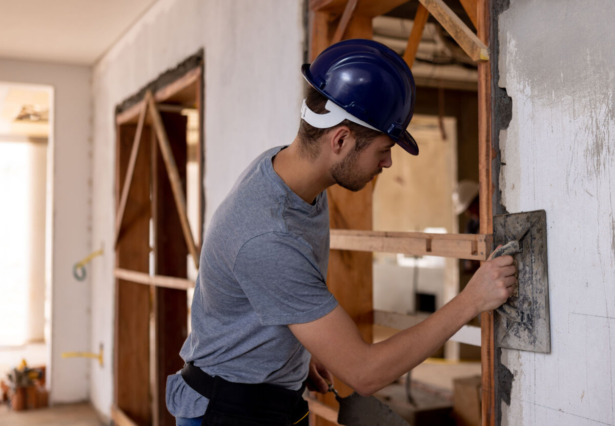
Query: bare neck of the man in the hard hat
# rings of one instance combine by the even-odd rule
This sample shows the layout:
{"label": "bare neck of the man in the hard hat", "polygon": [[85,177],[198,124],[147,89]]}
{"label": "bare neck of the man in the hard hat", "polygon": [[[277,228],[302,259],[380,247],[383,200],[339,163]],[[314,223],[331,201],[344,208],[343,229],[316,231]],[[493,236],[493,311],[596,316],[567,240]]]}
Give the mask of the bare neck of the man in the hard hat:
{"label": "bare neck of the man in the hard hat", "polygon": [[327,179],[327,168],[319,161],[301,155],[299,144],[295,138],[287,149],[277,153],[273,160],[273,169],[296,195],[312,204],[319,193],[330,187],[331,183]]}

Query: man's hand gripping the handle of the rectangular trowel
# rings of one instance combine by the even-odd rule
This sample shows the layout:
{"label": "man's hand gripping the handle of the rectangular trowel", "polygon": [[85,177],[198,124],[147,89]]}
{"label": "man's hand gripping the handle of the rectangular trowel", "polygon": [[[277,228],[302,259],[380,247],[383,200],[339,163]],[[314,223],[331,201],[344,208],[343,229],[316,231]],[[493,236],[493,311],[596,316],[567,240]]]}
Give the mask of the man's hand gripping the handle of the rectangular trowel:
{"label": "man's hand gripping the handle of the rectangular trowel", "polygon": [[496,309],[506,302],[517,283],[517,268],[513,265],[512,256],[494,259],[491,256],[478,268],[462,292],[474,304],[477,314]]}

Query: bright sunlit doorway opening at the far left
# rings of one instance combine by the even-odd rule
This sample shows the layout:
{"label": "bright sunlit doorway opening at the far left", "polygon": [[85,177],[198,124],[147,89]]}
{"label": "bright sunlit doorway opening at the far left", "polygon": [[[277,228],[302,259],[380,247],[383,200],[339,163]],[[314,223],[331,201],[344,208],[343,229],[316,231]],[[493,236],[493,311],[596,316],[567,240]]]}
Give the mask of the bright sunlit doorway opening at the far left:
{"label": "bright sunlit doorway opening at the far left", "polygon": [[0,82],[0,376],[50,365],[52,106],[46,85]]}

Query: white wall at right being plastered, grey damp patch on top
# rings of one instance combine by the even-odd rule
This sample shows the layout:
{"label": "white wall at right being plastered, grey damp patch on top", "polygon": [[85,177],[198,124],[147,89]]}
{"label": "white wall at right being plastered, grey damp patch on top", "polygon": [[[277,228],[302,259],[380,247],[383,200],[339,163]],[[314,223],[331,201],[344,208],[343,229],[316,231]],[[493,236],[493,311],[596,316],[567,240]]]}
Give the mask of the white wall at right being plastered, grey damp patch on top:
{"label": "white wall at right being plastered, grey damp patch on top", "polygon": [[545,209],[552,353],[502,350],[502,425],[615,424],[615,3],[511,0],[499,18],[510,212]]}

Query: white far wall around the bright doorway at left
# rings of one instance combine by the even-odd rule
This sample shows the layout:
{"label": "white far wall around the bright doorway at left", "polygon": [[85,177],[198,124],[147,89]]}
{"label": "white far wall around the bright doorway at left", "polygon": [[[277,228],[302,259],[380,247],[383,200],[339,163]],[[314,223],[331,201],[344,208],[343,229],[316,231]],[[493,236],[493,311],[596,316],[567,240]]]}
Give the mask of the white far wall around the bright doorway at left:
{"label": "white far wall around the bright doorway at left", "polygon": [[[50,289],[49,386],[52,403],[85,400],[88,360],[61,358],[89,349],[90,281],[77,282],[73,265],[90,244],[91,69],[0,59],[0,81],[53,87],[47,163],[47,285]],[[49,222],[49,220],[51,222]]]}

